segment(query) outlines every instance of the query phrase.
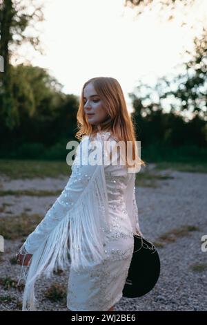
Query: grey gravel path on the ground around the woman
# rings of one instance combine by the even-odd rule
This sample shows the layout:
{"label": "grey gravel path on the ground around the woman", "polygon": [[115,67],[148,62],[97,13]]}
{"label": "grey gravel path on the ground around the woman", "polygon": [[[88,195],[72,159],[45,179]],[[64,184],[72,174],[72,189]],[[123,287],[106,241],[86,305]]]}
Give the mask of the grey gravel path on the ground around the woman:
{"label": "grey gravel path on the ground around the woman", "polygon": [[[165,232],[181,229],[182,226],[193,225],[196,231],[188,236],[177,237],[173,242],[158,247],[161,261],[161,273],[153,290],[139,298],[122,297],[115,305],[115,310],[207,310],[206,270],[193,271],[193,264],[207,266],[207,252],[201,251],[201,236],[207,235],[207,174],[172,171],[161,171],[172,179],[157,180],[157,187],[136,187],[137,206],[141,231],[147,239],[157,243],[158,237]],[[63,189],[68,178],[45,180],[6,180],[1,178],[1,189],[47,189],[55,191]],[[46,214],[47,209],[55,202],[56,197],[33,196],[1,196],[1,216],[26,213]],[[8,203],[12,205],[4,205]],[[5,240],[5,252],[1,253],[0,277],[10,275],[12,279],[19,276],[20,267],[10,263],[18,251],[21,241]],[[155,245],[156,246],[156,245]],[[66,301],[52,302],[44,297],[46,288],[52,282],[67,285],[68,274],[54,275],[52,279],[41,279],[37,282],[37,298],[39,310],[67,310]],[[0,299],[10,295],[10,302],[0,301],[0,310],[21,310],[21,297],[17,288],[4,290],[1,286]]]}

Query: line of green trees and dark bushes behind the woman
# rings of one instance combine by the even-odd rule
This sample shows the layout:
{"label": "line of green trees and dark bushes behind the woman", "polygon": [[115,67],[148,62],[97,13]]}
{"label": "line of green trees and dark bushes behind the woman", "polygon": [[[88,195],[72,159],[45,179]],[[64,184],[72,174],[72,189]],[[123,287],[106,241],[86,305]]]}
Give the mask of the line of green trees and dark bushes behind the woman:
{"label": "line of green trees and dark bushes behind the woman", "polygon": [[[66,143],[77,131],[79,97],[63,93],[46,69],[10,62],[12,51],[24,41],[39,46],[38,37],[24,35],[32,21],[43,19],[41,7],[29,2],[33,12],[27,12],[27,0],[0,2],[0,55],[5,64],[0,73],[0,157],[65,158]],[[206,49],[204,28],[183,73],[160,78],[153,87],[140,80],[130,94],[137,140],[144,147],[207,147]]]}

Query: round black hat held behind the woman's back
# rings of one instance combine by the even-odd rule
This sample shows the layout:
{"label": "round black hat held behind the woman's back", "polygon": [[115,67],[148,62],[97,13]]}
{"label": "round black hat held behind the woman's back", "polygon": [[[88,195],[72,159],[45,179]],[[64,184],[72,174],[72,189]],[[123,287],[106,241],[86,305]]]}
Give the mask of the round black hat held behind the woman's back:
{"label": "round black hat held behind the woman's back", "polygon": [[135,298],[146,295],[157,283],[159,272],[159,254],[155,245],[141,236],[134,235],[134,252],[123,297]]}

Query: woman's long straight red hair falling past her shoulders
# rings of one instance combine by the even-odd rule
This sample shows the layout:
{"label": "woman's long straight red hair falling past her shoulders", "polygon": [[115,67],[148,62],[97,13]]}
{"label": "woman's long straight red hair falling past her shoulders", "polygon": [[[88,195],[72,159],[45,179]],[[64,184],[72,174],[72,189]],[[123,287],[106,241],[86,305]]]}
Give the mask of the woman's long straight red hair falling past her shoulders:
{"label": "woman's long straight red hair falling past her shoulders", "polygon": [[[77,131],[75,137],[81,140],[84,135],[95,135],[99,131],[96,125],[92,125],[88,122],[88,118],[84,111],[83,91],[90,82],[101,98],[103,108],[108,114],[108,118],[99,124],[101,131],[110,131],[112,136],[117,140],[124,141],[126,145],[127,141],[132,141],[132,159],[139,162],[139,165],[145,165],[145,162],[137,156],[135,150],[135,128],[130,113],[128,113],[124,93],[119,82],[115,78],[94,77],[83,84],[79,109],[77,111],[77,127],[79,131]],[[126,166],[132,167],[128,165],[127,160]]]}

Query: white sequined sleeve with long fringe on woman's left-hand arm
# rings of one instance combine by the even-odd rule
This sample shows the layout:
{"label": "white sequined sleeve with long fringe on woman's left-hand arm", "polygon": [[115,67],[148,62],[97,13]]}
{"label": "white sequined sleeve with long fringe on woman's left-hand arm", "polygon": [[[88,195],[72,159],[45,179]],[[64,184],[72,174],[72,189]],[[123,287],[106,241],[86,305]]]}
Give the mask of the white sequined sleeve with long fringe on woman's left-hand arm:
{"label": "white sequined sleeve with long fringe on woman's left-hand arm", "polygon": [[88,144],[87,139],[81,142],[66,187],[20,250],[32,254],[28,275],[23,275],[23,310],[35,310],[34,282],[42,273],[50,277],[57,268],[78,271],[103,261],[109,218],[106,180],[103,165],[88,163]]}

